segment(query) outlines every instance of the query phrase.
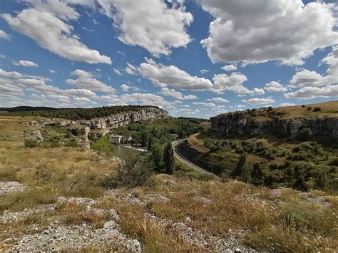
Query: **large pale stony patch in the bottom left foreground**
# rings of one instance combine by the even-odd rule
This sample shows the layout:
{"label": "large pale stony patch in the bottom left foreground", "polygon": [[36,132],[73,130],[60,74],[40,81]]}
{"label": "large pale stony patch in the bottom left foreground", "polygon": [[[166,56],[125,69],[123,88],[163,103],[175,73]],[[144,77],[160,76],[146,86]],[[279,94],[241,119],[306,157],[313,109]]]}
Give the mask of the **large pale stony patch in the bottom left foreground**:
{"label": "large pale stony patch in the bottom left foreground", "polygon": [[10,251],[14,252],[78,251],[86,247],[112,247],[127,252],[141,252],[140,242],[137,239],[127,239],[119,231],[118,224],[112,220],[107,221],[101,229],[93,229],[86,223],[66,226],[56,220],[41,233],[26,234],[19,241],[12,241],[11,238],[6,239],[6,243],[11,244]]}

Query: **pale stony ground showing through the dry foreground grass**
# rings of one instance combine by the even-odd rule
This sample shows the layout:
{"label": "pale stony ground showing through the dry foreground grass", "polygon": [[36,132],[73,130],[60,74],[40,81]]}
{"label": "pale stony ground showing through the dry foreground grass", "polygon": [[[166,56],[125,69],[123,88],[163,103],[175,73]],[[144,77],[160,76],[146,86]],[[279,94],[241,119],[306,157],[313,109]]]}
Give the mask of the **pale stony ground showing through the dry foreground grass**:
{"label": "pale stony ground showing through the dry foreground grass", "polygon": [[[20,190],[26,190],[27,187],[19,182],[0,182],[1,193],[10,194]],[[106,195],[98,200],[83,197],[58,197],[55,204],[39,205],[34,209],[26,209],[21,212],[5,211],[0,216],[0,223],[7,225],[11,230],[11,225],[18,222],[24,222],[29,217],[39,217],[40,215],[48,217],[48,222],[39,224],[39,222],[30,222],[25,231],[29,233],[14,234],[0,242],[0,250],[6,252],[36,252],[36,251],[63,251],[63,250],[83,250],[83,249],[117,249],[128,252],[141,252],[141,244],[138,239],[128,238],[121,232],[119,224],[119,215],[116,210],[103,210],[96,207],[97,203],[109,198],[123,199],[126,203],[132,205],[145,206],[150,202],[161,202],[166,204],[170,202],[168,197],[159,194],[148,194],[140,200],[132,192],[126,193],[121,190],[110,190]],[[210,202],[204,197],[196,197],[200,202]],[[68,224],[59,210],[66,205],[76,205],[83,207],[83,215],[105,216],[101,227],[95,227],[88,222],[81,224]],[[156,217],[154,214],[145,212],[145,220],[159,227],[170,227],[175,232],[183,235],[183,241],[193,245],[195,248],[203,251],[227,252],[230,250],[250,250],[241,245],[240,233],[229,238],[214,237],[203,234],[198,229],[193,229],[184,222],[173,222],[163,218]],[[187,222],[191,221],[186,217]],[[10,231],[3,231],[5,234]]]}

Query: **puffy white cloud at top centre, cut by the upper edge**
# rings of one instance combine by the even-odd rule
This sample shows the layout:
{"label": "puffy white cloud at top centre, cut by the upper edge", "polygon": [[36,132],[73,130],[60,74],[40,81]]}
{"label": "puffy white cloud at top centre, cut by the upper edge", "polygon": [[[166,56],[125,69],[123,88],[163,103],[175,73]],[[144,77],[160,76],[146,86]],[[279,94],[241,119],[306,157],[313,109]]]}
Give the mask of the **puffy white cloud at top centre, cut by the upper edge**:
{"label": "puffy white cloud at top centre, cut by the upper edge", "polygon": [[193,15],[179,1],[98,0],[101,11],[113,19],[123,43],[141,46],[153,56],[169,55],[170,48],[186,46],[192,39],[186,28]]}

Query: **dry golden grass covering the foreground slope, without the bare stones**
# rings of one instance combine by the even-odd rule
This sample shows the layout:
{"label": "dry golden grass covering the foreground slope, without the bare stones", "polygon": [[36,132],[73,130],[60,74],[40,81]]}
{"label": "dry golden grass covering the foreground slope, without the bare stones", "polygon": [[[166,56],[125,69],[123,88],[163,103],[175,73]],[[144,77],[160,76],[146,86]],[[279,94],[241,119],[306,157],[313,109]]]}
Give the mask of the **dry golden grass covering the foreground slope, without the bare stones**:
{"label": "dry golden grass covering the foreground slope, without the bare stones", "polygon": [[[53,220],[65,225],[85,222],[95,230],[103,227],[111,218],[106,213],[114,209],[121,232],[138,239],[144,252],[206,251],[188,240],[197,232],[196,238],[235,238],[242,247],[260,251],[329,252],[338,247],[338,199],[327,192],[304,194],[236,180],[212,180],[178,161],[175,175],[153,175],[152,185],[107,189],[104,182],[116,173],[116,158],[84,148],[25,148],[24,132],[34,130],[21,124],[27,120],[31,119],[0,117],[0,181],[26,186],[24,191],[0,195],[1,215],[39,210],[55,204],[61,196],[96,200],[94,207],[105,214],[87,214],[81,205],[69,203],[55,210],[42,209],[0,224],[0,242],[43,232]],[[130,195],[145,205],[126,201]],[[148,201],[153,195],[168,201]],[[190,235],[186,227],[190,227]],[[116,248],[107,245],[100,250],[112,249]]]}

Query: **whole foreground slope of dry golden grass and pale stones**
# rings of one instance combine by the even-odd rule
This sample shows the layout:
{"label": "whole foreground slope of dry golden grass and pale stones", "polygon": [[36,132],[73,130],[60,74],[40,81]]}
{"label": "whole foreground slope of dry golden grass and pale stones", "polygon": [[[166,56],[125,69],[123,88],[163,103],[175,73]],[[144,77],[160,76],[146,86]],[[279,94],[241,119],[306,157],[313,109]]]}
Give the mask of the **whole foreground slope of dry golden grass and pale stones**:
{"label": "whole foreground slope of dry golden grass and pale stones", "polygon": [[[86,148],[28,148],[24,136],[38,130],[23,124],[30,120],[0,117],[1,250],[312,252],[338,247],[338,200],[330,192],[215,180],[178,161],[173,175],[164,175],[141,159],[121,164]],[[162,133],[166,125],[180,129],[170,118],[145,128]],[[125,130],[138,129],[130,126]],[[42,135],[43,142],[66,138],[57,126],[46,126]]]}

